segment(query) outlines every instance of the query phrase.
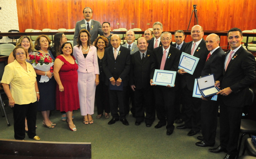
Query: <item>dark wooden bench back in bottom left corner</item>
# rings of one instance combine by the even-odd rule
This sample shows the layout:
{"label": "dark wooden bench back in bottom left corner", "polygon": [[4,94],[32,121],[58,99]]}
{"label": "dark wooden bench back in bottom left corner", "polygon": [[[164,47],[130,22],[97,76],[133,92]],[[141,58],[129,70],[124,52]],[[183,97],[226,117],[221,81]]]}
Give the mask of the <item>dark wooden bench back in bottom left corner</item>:
{"label": "dark wooden bench back in bottom left corner", "polygon": [[0,158],[92,158],[90,142],[0,139]]}

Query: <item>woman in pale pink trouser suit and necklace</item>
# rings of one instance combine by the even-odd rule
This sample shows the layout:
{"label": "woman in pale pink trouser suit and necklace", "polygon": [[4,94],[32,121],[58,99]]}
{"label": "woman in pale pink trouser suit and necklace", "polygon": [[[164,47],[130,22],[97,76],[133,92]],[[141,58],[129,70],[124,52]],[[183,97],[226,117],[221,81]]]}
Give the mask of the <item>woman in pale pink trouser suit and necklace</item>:
{"label": "woman in pale pink trouser suit and necklace", "polygon": [[78,63],[78,93],[85,125],[93,124],[95,90],[100,81],[97,49],[91,45],[90,37],[86,29],[80,30],[73,53]]}

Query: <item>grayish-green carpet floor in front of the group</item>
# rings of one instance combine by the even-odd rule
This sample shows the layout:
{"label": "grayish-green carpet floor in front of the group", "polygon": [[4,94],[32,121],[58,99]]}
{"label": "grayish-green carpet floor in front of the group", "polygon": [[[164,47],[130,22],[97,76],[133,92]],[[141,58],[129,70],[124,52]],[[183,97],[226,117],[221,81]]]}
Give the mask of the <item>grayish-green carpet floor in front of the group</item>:
{"label": "grayish-green carpet floor in front of the group", "polygon": [[[0,138],[14,139],[12,110],[8,106],[5,107],[5,110],[11,126],[7,126],[5,118],[0,117]],[[132,117],[132,114],[126,116],[129,126],[123,125],[120,121],[108,125],[111,116],[109,119],[105,119],[104,116],[96,119],[95,107],[92,115],[94,124],[84,125],[80,110],[74,111],[73,114],[75,115],[73,122],[77,128],[76,132],[70,131],[66,122],[61,121],[59,111],[52,111],[50,119],[57,124],[53,129],[44,127],[41,112],[38,112],[36,134],[41,141],[91,142],[93,159],[215,159],[224,158],[226,155],[224,152],[211,153],[208,151],[210,147],[197,147],[195,145],[198,141],[196,137],[201,136],[201,133],[189,137],[187,136],[189,129],[178,130],[175,128],[172,135],[166,135],[165,126],[159,129],[154,128],[158,123],[157,118],[151,127],[146,127],[145,123],[141,123],[139,126],[134,125],[135,118]],[[218,125],[214,147],[220,144],[219,132]],[[26,136],[25,140],[32,139]]]}

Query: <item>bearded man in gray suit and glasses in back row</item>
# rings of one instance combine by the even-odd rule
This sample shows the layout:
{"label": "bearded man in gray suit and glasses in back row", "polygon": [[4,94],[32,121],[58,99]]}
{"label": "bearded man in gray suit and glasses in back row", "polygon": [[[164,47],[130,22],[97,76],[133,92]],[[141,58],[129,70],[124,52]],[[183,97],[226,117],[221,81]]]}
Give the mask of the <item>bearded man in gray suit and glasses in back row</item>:
{"label": "bearded man in gray suit and glasses in back row", "polygon": [[128,48],[131,50],[131,54],[134,52],[139,51],[139,48],[137,47],[136,44],[134,44],[135,36],[134,32],[132,30],[126,31],[126,36],[125,36],[126,44],[122,45],[125,48]]}

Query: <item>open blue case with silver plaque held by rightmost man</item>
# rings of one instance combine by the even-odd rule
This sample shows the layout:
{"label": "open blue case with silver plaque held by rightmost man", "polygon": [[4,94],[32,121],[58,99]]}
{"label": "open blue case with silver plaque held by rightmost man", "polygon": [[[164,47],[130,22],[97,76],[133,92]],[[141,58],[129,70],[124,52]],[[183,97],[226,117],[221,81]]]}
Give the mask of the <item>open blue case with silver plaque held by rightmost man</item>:
{"label": "open blue case with silver plaque held by rightmost man", "polygon": [[213,74],[197,78],[198,88],[204,98],[216,95],[220,92],[218,87],[214,87],[215,79]]}

